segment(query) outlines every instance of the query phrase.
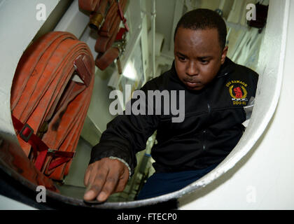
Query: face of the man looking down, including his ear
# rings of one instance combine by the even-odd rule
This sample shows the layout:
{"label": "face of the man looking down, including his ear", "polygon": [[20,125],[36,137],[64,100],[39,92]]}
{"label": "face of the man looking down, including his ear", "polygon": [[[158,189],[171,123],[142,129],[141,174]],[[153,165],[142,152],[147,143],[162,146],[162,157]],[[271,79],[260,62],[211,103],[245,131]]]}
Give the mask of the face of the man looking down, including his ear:
{"label": "face of the man looking down, including his ear", "polygon": [[179,27],[174,40],[174,62],[180,80],[190,90],[202,90],[225,62],[228,47],[221,49],[217,29]]}

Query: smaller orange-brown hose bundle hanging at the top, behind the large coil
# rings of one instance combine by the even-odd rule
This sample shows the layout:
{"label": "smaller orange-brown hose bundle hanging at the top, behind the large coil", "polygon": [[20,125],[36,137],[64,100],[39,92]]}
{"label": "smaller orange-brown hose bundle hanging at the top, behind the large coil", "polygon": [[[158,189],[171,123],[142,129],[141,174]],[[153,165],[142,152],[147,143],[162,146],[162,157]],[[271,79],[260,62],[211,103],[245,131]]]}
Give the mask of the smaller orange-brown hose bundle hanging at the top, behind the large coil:
{"label": "smaller orange-brown hose bundle hanging at the top, behind the large coil", "polygon": [[[95,64],[99,69],[104,70],[115,59],[118,59],[118,71],[121,73],[119,57],[124,51],[123,48],[125,48],[123,34],[129,31],[127,20],[123,15],[127,0],[79,0],[78,2],[81,9],[91,12],[90,27],[94,27],[97,31],[98,37],[94,49],[98,52],[98,55]],[[104,20],[102,20],[102,17],[104,17]],[[120,28],[121,21],[125,28]]]}

